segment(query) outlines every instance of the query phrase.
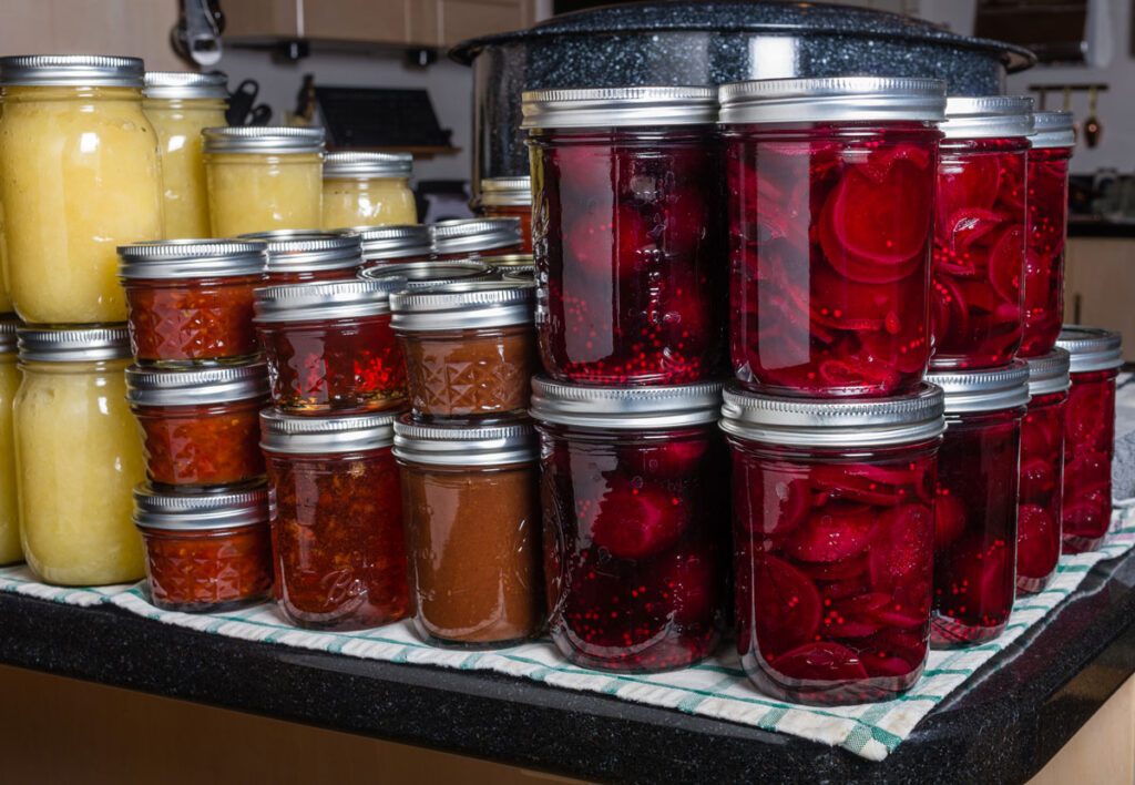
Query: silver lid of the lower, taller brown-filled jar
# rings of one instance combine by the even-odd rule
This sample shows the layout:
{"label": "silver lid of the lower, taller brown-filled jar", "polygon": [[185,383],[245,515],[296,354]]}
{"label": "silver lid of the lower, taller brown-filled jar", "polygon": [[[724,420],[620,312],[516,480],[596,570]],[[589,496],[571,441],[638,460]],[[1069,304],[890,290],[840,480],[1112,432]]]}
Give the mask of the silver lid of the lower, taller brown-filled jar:
{"label": "silver lid of the lower, taller brown-filled jar", "polygon": [[498,466],[539,458],[536,427],[521,423],[446,425],[414,423],[409,414],[394,421],[394,457],[429,466]]}

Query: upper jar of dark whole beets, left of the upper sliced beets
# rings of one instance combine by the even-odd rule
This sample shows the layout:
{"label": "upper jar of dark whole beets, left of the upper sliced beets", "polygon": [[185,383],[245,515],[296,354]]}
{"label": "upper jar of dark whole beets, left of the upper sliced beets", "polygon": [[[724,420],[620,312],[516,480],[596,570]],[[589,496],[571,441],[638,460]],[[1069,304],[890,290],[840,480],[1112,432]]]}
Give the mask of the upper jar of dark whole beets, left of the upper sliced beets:
{"label": "upper jar of dark whole beets, left of the upper sliced beets", "polygon": [[545,371],[690,384],[724,348],[717,99],[709,87],[524,93]]}

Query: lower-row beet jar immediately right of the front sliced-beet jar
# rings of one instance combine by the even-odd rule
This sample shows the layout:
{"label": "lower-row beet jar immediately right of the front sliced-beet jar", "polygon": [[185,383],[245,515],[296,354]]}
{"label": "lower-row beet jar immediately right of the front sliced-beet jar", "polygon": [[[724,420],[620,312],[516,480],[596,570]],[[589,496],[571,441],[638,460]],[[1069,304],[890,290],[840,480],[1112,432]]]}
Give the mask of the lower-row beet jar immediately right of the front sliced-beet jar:
{"label": "lower-row beet jar immediately right of the front sliced-beet jar", "polygon": [[938,458],[931,645],[956,649],[1000,635],[1012,610],[1028,366],[927,379],[945,391],[948,425]]}

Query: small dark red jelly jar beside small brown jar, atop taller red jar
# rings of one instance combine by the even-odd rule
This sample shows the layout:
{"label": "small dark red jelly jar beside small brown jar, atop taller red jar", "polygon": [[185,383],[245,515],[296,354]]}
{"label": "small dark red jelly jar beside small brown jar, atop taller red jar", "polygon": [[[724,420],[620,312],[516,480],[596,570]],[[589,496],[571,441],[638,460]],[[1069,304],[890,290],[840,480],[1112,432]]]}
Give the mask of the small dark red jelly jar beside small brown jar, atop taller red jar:
{"label": "small dark red jelly jar beside small brown jar, atop taller red jar", "polygon": [[272,404],[295,415],[401,406],[406,367],[390,327],[390,292],[404,285],[387,277],[258,289]]}

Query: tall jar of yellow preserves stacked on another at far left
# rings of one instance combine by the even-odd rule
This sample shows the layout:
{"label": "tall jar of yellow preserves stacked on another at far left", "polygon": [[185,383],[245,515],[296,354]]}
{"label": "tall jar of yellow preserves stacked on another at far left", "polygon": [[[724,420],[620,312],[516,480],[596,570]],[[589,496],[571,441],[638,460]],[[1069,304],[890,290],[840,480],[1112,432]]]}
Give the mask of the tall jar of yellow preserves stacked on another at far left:
{"label": "tall jar of yellow preserves stacked on another at far left", "polygon": [[142,78],[132,57],[0,58],[5,279],[24,321],[126,320],[115,248],[162,236]]}

